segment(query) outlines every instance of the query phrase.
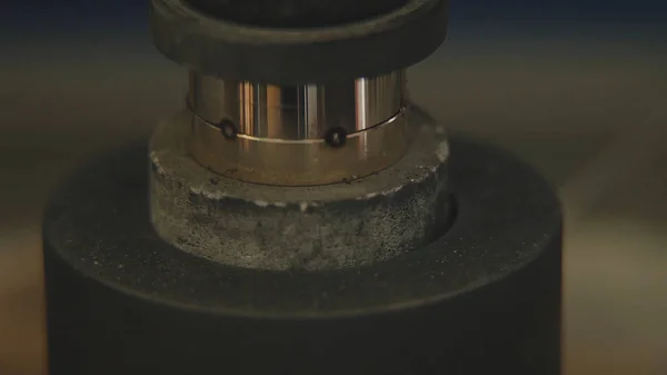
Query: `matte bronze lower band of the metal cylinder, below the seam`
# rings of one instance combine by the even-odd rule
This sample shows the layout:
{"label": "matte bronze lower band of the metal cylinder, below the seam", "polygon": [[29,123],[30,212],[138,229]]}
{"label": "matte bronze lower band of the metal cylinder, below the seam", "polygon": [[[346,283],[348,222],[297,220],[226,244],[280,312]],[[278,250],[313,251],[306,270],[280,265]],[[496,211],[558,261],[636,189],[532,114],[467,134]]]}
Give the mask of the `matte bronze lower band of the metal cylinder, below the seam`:
{"label": "matte bronze lower band of the metal cylinder, below the seam", "polygon": [[339,147],[332,147],[323,138],[230,137],[219,126],[191,114],[188,146],[195,160],[230,178],[279,186],[334,184],[371,175],[398,161],[414,136],[407,117],[408,110],[400,109],[388,120],[350,134]]}

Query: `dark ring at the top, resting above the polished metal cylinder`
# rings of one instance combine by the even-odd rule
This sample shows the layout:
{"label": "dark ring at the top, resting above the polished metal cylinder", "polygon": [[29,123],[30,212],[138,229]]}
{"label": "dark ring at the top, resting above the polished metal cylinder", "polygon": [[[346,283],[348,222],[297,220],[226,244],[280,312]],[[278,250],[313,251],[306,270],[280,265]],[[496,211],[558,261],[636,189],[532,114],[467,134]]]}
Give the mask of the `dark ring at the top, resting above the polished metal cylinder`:
{"label": "dark ring at the top, resting above the polished metal cylinder", "polygon": [[387,73],[445,40],[447,0],[410,0],[361,22],[261,28],[208,17],[185,0],[152,0],[153,43],[169,59],[221,79],[298,85]]}

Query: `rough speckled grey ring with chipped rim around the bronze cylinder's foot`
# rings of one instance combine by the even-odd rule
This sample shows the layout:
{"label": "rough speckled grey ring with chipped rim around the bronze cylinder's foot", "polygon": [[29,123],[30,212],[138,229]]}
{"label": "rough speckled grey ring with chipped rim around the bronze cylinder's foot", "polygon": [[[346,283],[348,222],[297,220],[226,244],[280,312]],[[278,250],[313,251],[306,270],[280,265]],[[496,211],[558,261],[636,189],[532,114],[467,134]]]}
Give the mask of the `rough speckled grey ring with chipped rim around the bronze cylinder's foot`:
{"label": "rough speckled grey ring with chipped rim around the bronze cylinder's foot", "polygon": [[399,162],[351,182],[275,187],[225,178],[187,156],[187,115],[151,140],[151,217],[176,247],[227,265],[325,269],[384,260],[426,244],[447,215],[448,147],[441,128],[419,127]]}

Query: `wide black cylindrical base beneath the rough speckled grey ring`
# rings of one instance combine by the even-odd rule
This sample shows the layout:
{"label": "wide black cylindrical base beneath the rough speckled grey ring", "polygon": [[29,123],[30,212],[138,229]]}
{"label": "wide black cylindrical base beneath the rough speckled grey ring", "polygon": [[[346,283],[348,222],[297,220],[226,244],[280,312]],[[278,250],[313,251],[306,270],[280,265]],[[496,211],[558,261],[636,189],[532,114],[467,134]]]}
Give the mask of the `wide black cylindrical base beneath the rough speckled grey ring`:
{"label": "wide black cylindrical base beneath the rough speckled grey ring", "polygon": [[163,243],[146,152],[83,170],[47,213],[52,375],[560,373],[559,203],[507,154],[452,141],[458,213],[431,245],[291,273]]}

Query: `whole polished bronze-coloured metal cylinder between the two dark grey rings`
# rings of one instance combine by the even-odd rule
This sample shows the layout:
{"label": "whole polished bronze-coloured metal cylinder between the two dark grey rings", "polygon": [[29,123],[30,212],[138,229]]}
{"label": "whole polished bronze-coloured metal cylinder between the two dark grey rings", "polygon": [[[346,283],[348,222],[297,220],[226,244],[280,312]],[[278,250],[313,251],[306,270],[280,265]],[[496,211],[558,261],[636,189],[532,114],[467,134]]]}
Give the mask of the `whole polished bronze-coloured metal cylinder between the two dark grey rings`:
{"label": "whole polished bronze-coloured metal cylinder between the two dark grey rings", "polygon": [[318,85],[226,81],[190,72],[189,152],[239,180],[310,186],[354,180],[410,145],[402,70]]}

